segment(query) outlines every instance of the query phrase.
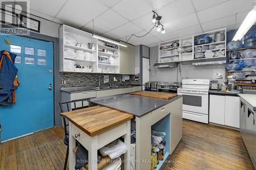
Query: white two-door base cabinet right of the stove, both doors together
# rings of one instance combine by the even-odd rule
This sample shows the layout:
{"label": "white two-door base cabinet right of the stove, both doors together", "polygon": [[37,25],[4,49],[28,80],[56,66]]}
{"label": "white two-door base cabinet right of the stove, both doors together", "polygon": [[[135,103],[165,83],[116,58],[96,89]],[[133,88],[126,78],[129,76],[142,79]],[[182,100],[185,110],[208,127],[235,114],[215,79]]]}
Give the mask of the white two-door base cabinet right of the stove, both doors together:
{"label": "white two-door base cabinet right of the stove, both doors together", "polygon": [[210,95],[209,122],[239,128],[240,99],[238,96]]}

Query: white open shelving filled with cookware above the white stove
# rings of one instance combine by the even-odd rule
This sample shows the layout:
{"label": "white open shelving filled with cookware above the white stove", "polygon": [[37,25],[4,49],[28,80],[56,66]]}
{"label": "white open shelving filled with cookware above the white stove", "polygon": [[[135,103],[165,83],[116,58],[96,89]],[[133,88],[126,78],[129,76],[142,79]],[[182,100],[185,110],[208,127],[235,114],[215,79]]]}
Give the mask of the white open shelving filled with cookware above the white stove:
{"label": "white open shelving filled with cookware above the white stove", "polygon": [[[224,33],[225,34],[225,38],[222,41],[217,41],[214,42],[214,40],[212,40],[210,43],[205,43],[205,44],[198,44],[195,45],[195,40],[198,37],[201,37],[202,35],[207,35],[207,36],[214,36],[218,33]],[[169,47],[169,48],[165,48],[160,50],[161,46],[166,46],[168,47],[169,45],[171,45],[173,42],[179,42],[179,46],[177,47]],[[201,46],[207,46],[207,45],[219,45],[219,44],[223,44],[224,47],[221,48],[214,48],[211,50],[203,50],[203,51],[195,51],[195,47],[201,47]],[[194,36],[190,36],[190,37],[184,37],[184,38],[180,38],[180,39],[174,39],[174,40],[169,40],[169,41],[165,41],[165,42],[160,42],[159,46],[158,46],[158,62],[159,63],[166,63],[166,62],[182,62],[182,61],[188,61],[188,62],[200,62],[200,61],[204,61],[207,62],[208,60],[210,61],[214,61],[214,60],[226,60],[226,29],[219,29],[219,30],[214,30],[214,31],[210,31],[210,32],[205,32],[202,34],[197,34]],[[183,48],[186,48],[187,52],[182,52]],[[179,50],[179,54],[172,54],[172,52],[166,52],[166,51],[173,51],[173,50]],[[191,51],[189,51],[191,49]],[[223,51],[224,55],[223,56],[219,56],[219,57],[211,57],[211,58],[200,58],[200,59],[196,59],[195,58],[195,54],[196,53],[205,53],[207,51],[212,51],[212,52],[217,52],[217,51]],[[167,53],[167,55],[166,55]],[[168,54],[170,53],[170,54]],[[174,60],[174,57],[179,56],[179,60]]]}

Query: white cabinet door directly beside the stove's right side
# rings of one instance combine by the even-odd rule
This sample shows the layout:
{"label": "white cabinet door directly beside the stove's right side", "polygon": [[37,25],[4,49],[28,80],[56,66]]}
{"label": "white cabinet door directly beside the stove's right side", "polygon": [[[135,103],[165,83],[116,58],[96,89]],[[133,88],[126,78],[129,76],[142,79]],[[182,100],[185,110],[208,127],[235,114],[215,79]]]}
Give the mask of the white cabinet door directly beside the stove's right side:
{"label": "white cabinet door directly beside the stove's right side", "polygon": [[225,123],[225,96],[210,95],[209,122],[224,125]]}

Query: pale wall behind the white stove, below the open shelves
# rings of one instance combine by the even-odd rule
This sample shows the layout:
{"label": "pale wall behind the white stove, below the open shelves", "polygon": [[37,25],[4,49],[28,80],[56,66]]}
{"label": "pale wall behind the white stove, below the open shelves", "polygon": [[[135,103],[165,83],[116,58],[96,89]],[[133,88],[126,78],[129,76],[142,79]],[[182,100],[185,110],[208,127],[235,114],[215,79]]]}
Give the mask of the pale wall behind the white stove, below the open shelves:
{"label": "pale wall behind the white stove, below the open shelves", "polygon": [[[154,53],[154,54],[153,54]],[[158,46],[150,48],[150,62],[151,62],[151,81],[176,82],[177,68],[154,68],[153,65],[158,60]],[[222,69],[225,74],[225,65],[207,65],[207,66],[193,66],[181,65],[181,75],[183,79],[213,79],[213,70]],[[225,75],[224,75],[225,77]],[[180,72],[178,71],[178,82],[181,82]],[[218,80],[221,83],[223,80]]]}

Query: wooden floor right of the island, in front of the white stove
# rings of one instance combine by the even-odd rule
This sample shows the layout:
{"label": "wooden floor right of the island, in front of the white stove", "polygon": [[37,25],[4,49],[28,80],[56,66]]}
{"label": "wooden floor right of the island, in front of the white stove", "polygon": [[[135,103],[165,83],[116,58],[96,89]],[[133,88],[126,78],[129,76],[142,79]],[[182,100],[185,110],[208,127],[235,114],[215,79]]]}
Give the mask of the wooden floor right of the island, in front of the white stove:
{"label": "wooden floor right of the island, in front of the white stove", "polygon": [[183,137],[168,160],[161,169],[254,169],[239,131],[185,119]]}

